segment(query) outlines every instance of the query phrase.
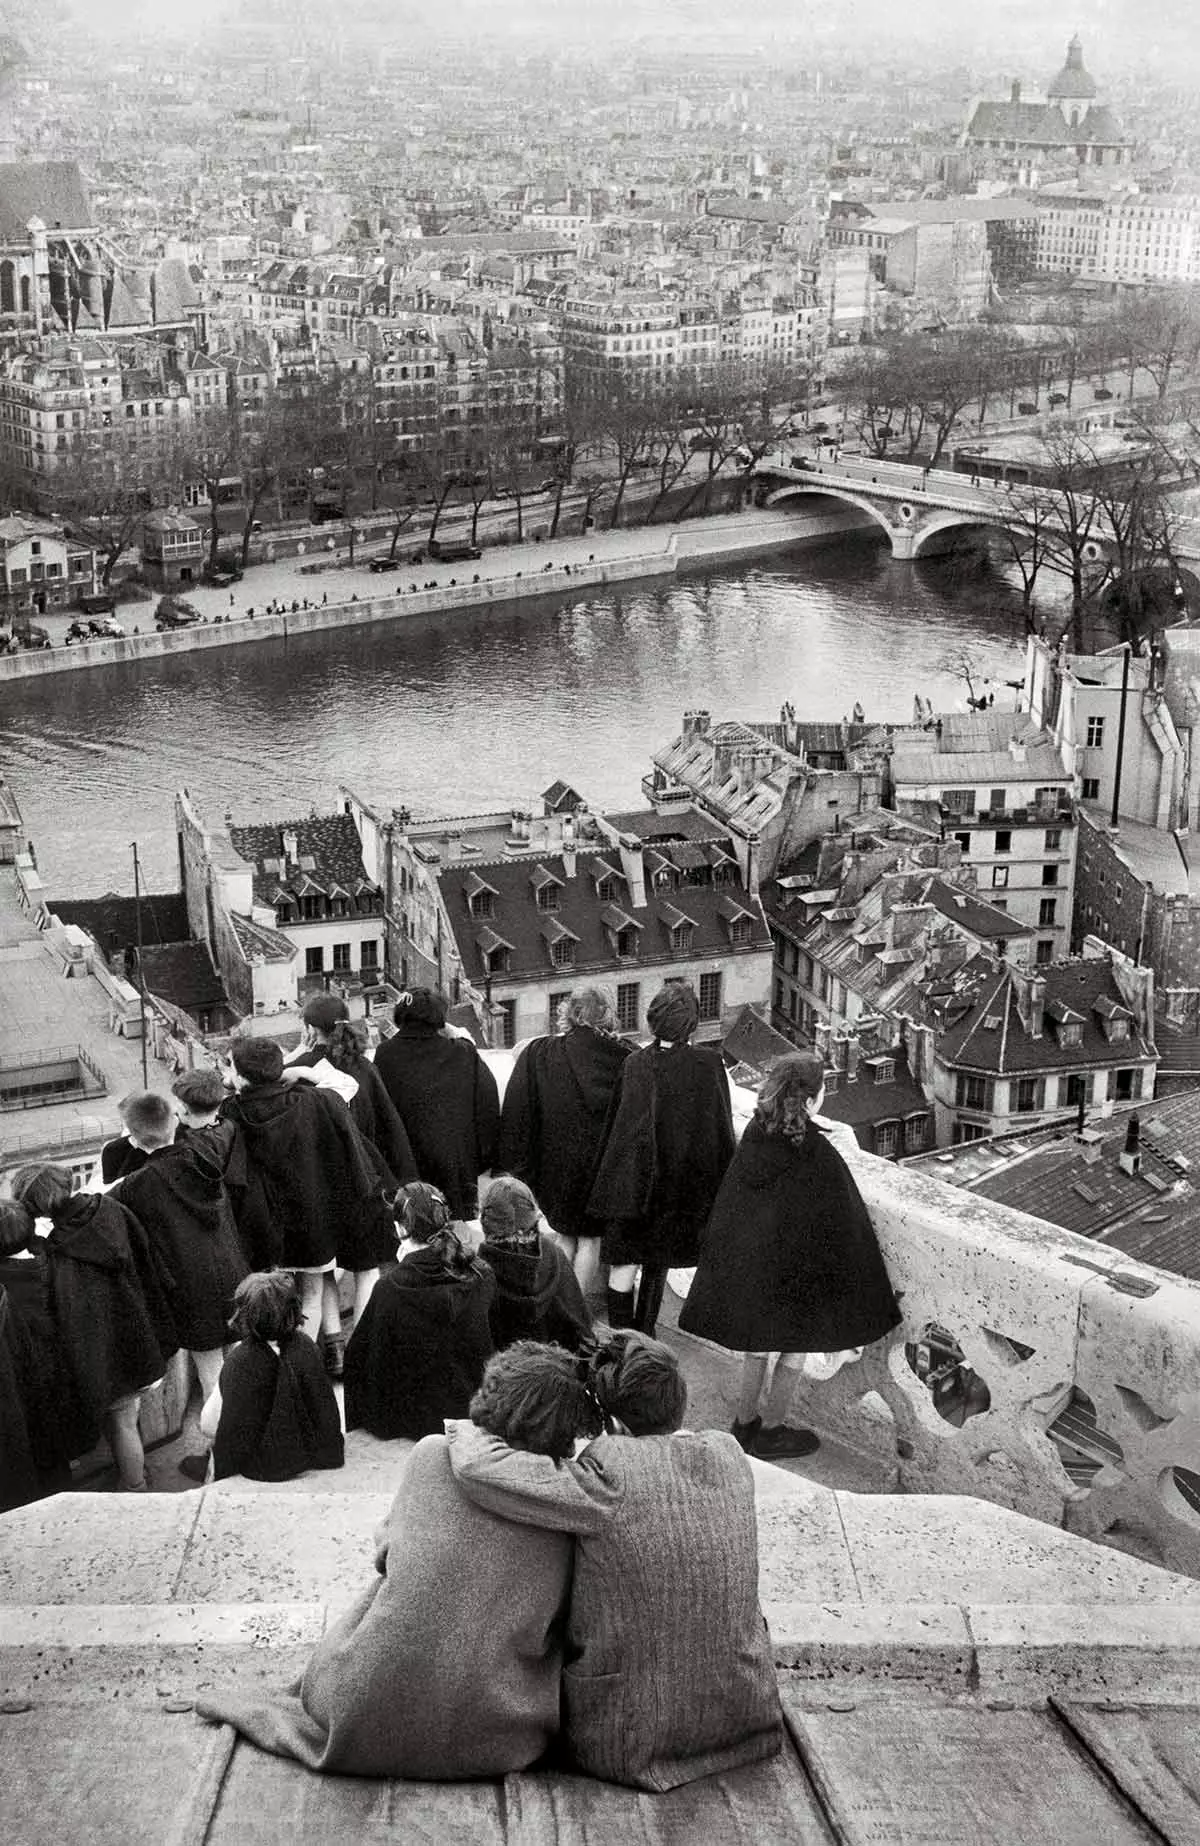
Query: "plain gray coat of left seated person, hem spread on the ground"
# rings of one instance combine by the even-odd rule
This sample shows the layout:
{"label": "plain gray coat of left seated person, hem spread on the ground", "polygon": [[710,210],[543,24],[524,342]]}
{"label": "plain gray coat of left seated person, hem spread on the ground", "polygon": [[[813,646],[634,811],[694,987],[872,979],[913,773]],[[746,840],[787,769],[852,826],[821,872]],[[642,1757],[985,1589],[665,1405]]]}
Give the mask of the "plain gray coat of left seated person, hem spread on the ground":
{"label": "plain gray coat of left seated person, hem spread on the ground", "polygon": [[198,1700],[201,1717],[330,1774],[463,1781],[528,1768],[559,1724],[570,1538],[467,1499],[447,1438],[425,1436],[378,1552],[384,1575],[297,1685]]}

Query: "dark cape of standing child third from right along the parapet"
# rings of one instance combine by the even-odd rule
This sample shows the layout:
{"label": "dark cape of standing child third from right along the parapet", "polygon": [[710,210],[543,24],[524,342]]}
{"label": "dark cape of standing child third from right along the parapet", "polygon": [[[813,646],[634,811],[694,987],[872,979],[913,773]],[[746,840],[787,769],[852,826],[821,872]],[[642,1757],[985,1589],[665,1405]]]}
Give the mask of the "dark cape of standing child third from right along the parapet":
{"label": "dark cape of standing child third from right along the parapet", "polygon": [[631,1052],[624,1039],[572,1026],[519,1054],[500,1111],[500,1169],[534,1193],[563,1237],[600,1237],[587,1215],[604,1126]]}

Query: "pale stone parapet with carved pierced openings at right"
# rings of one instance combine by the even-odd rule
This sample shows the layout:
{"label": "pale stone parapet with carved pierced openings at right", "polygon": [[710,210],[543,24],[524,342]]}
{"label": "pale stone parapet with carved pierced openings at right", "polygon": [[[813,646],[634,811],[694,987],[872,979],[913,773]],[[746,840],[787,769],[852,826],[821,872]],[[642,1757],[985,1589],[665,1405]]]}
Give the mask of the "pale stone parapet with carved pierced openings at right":
{"label": "pale stone parapet with carved pierced openings at right", "polygon": [[1200,1285],[871,1156],[903,1325],[792,1420],[912,1493],[973,1493],[1200,1576]]}

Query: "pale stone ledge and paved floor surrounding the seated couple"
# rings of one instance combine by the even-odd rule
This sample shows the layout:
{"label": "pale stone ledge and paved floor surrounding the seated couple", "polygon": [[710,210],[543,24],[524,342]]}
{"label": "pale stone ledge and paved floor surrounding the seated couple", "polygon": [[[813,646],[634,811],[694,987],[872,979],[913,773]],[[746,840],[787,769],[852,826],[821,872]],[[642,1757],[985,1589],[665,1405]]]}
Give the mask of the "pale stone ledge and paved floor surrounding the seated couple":
{"label": "pale stone ledge and paved floor surrounding the seated couple", "polygon": [[371,1569],[386,1493],[61,1495],[9,1514],[0,1839],[1200,1840],[1200,1584],[980,1501],[755,1477],[785,1748],[661,1796],[552,1770],[319,1778],[196,1719],[201,1693],[303,1669]]}

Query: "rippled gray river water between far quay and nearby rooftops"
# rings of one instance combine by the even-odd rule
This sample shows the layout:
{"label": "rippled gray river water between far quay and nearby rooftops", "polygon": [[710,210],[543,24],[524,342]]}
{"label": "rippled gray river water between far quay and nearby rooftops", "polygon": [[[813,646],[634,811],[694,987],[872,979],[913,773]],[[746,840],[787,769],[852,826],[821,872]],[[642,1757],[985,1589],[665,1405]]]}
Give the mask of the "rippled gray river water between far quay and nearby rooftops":
{"label": "rippled gray river water between far quay and nearby rooftops", "polygon": [[[641,807],[685,707],[908,720],[962,707],[953,661],[1012,705],[1023,624],[986,565],[895,563],[860,539],[497,611],[415,617],[0,689],[0,770],[54,895],[177,886],[174,792],[210,820],[332,810],[338,783],[414,814],[528,799],[556,777]],[[984,685],[986,681],[986,685]]]}

